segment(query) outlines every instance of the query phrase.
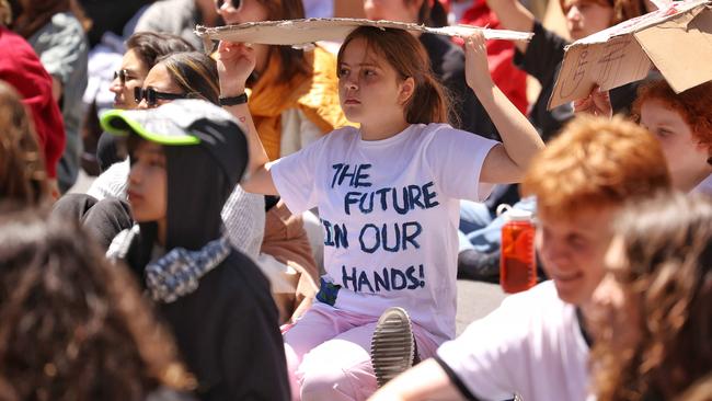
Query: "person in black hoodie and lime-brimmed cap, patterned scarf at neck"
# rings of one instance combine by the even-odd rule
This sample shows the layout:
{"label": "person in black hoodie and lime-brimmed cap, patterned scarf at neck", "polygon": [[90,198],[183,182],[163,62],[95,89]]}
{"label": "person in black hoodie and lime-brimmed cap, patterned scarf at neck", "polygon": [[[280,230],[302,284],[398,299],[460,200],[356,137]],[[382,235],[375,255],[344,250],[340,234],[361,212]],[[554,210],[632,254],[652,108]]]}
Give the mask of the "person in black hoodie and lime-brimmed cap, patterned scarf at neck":
{"label": "person in black hoodie and lime-brimmed cap, patterned scarf at neck", "polygon": [[138,221],[110,247],[173,330],[203,400],[286,400],[289,385],[269,283],[222,236],[220,210],[248,163],[237,121],[200,100],[111,111],[128,135],[128,198]]}

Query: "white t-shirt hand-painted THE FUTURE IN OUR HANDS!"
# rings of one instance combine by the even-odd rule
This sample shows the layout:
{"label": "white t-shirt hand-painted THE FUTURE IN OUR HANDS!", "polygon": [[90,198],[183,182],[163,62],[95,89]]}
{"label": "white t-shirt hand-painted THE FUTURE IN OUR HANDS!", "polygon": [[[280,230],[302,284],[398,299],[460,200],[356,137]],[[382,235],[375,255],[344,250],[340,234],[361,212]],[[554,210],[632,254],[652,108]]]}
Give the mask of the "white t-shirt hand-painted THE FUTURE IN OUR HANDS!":
{"label": "white t-shirt hand-painted THE FUTURE IN OUR HANDS!", "polygon": [[376,141],[345,127],[273,164],[292,213],[319,207],[326,285],[318,299],[369,317],[399,306],[438,342],[451,339],[459,199],[489,195],[480,171],[496,144],[446,124]]}

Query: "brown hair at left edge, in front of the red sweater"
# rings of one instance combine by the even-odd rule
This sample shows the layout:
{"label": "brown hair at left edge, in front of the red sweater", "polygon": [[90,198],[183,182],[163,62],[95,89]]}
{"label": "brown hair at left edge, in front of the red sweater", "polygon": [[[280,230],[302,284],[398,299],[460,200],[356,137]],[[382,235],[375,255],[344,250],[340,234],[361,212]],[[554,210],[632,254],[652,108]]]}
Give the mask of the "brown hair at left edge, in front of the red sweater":
{"label": "brown hair at left edge, in front of the red sweater", "polygon": [[49,195],[45,162],[20,95],[0,80],[0,197],[38,205]]}

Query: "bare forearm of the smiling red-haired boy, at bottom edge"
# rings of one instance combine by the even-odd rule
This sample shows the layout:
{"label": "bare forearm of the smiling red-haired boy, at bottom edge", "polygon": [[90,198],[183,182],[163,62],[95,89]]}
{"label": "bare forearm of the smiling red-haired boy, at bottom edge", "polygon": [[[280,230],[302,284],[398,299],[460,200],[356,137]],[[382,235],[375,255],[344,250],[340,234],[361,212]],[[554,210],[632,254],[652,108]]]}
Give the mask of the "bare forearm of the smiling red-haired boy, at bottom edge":
{"label": "bare forearm of the smiling red-haired boy, at bottom edge", "polygon": [[461,400],[462,394],[435,359],[427,359],[406,370],[369,401]]}

